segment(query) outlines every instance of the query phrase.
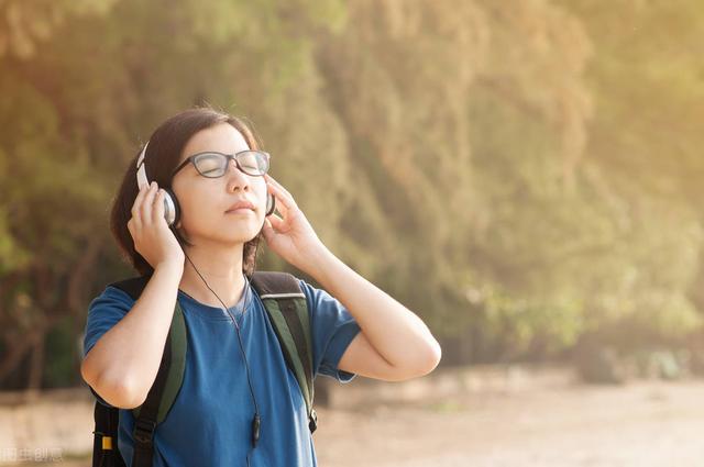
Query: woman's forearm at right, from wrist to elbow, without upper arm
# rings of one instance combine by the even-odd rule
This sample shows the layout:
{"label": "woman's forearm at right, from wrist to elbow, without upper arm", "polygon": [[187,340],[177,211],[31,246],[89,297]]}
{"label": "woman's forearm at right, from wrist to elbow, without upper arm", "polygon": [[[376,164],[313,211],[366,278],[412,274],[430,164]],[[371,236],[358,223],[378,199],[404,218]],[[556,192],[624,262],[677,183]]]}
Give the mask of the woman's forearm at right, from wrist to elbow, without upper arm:
{"label": "woman's forearm at right, from wrist to elbow, without upper arm", "polygon": [[397,368],[428,368],[440,360],[440,344],[414,312],[322,247],[306,273],[354,316],[366,338]]}

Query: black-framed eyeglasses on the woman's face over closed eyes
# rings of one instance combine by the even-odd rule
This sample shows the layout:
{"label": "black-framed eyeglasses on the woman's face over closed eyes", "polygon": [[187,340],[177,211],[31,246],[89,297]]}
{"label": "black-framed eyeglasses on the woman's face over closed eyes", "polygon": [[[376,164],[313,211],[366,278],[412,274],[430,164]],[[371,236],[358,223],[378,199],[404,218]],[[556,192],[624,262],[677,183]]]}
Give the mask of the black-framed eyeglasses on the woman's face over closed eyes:
{"label": "black-framed eyeglasses on the woman's face over closed eyes", "polygon": [[234,155],[208,151],[189,156],[174,169],[172,177],[174,177],[182,168],[186,167],[188,163],[193,164],[194,167],[196,167],[196,170],[198,170],[198,174],[204,177],[222,177],[228,169],[228,163],[230,159],[234,159],[237,167],[246,175],[263,177],[268,170],[270,155],[263,151],[246,149],[240,151]]}

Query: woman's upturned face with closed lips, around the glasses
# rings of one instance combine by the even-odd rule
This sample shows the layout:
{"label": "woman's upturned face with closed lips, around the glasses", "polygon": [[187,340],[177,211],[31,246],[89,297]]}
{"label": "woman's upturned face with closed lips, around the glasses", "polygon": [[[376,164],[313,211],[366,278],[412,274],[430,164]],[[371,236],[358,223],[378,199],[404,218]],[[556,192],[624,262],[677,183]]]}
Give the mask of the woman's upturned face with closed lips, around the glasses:
{"label": "woman's upturned face with closed lips, around the glasses", "polygon": [[[206,151],[235,154],[250,149],[246,141],[234,126],[220,123],[201,130],[188,141],[180,162]],[[207,178],[198,174],[193,164],[184,167],[172,180],[172,189],[182,209],[177,225],[194,244],[199,240],[222,244],[251,241],[264,224],[266,210],[266,182],[264,177],[246,175],[230,160],[220,178]],[[254,210],[227,212],[241,200],[254,204]]]}

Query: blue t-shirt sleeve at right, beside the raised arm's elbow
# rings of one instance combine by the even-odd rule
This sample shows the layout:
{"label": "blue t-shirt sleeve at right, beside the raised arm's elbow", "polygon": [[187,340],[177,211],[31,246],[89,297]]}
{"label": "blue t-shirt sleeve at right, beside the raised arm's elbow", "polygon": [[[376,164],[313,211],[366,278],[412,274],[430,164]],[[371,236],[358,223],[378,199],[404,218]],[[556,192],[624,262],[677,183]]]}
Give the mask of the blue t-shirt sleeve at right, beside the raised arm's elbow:
{"label": "blue t-shirt sleeve at right, beside the raised arm's elbow", "polygon": [[338,368],[342,354],[356,334],[360,325],[340,301],[322,289],[299,279],[308,301],[312,329],[314,377],[321,375],[350,382],[356,374]]}

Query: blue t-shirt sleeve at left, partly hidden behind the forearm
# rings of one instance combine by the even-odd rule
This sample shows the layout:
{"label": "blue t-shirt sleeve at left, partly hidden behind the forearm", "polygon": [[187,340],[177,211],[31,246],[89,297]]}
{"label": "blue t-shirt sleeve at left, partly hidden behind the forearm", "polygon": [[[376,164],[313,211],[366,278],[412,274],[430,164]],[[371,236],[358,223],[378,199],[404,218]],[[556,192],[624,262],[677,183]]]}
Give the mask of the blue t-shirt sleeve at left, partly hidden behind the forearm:
{"label": "blue t-shirt sleeve at left, partly hidden behind the forearm", "polygon": [[[82,356],[84,358],[112,326],[114,326],[130,311],[134,300],[124,291],[108,286],[103,292],[96,297],[88,305],[88,318],[84,332]],[[106,402],[92,388],[90,391],[99,402],[112,407]]]}

